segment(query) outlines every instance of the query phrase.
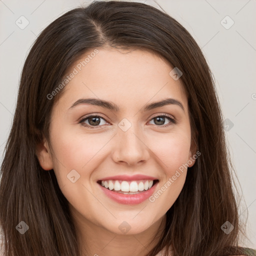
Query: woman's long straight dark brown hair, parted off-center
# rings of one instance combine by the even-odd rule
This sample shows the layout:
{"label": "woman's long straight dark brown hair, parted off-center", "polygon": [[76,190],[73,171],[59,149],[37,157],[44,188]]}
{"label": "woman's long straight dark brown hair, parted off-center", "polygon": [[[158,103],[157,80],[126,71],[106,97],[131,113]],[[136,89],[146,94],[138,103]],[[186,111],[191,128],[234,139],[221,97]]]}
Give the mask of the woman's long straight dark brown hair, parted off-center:
{"label": "woman's long straight dark brown hair, parted off-center", "polygon": [[[237,205],[232,169],[216,89],[205,58],[188,31],[168,14],[143,3],[96,1],[72,9],[50,23],[34,42],[23,66],[13,123],[1,166],[0,224],[6,256],[79,255],[68,201],[53,170],[36,156],[49,140],[50,94],[67,69],[88,49],[104,46],[152,50],[182,71],[189,119],[201,155],[187,172],[154,256],[164,246],[173,256],[238,254]],[[29,230],[20,235],[15,226]],[[234,229],[226,234],[221,225]]]}

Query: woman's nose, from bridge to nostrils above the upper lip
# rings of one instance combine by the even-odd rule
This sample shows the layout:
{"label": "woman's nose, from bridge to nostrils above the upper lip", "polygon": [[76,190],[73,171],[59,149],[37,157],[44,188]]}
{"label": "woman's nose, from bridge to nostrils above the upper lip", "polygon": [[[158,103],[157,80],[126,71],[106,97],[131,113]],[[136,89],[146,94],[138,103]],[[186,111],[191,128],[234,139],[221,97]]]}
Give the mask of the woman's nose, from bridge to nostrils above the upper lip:
{"label": "woman's nose, from bridge to nostrils above the upper lip", "polygon": [[135,165],[146,162],[149,157],[149,148],[146,145],[143,131],[135,128],[135,125],[131,125],[126,131],[117,129],[112,150],[112,159],[115,162]]}

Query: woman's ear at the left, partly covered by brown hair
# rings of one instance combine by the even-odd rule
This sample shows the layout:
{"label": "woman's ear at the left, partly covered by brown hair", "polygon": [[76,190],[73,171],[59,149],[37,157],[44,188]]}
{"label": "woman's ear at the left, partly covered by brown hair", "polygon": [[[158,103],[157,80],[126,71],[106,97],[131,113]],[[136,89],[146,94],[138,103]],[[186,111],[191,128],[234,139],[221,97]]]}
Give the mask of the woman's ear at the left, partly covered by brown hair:
{"label": "woman's ear at the left, partly covered by brown hair", "polygon": [[44,170],[53,169],[50,148],[45,138],[43,138],[43,140],[36,145],[36,155],[41,167]]}

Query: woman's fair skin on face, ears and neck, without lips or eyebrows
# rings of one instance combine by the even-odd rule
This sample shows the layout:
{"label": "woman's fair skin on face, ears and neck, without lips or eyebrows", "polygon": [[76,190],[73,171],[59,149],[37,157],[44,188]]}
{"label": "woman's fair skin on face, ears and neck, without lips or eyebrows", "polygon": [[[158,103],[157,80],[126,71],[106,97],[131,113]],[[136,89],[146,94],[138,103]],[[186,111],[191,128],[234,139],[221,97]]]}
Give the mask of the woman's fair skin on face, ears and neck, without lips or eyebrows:
{"label": "woman's fair skin on face, ears and neck, without lips or eyebrows", "polygon": [[[178,197],[186,176],[180,176],[153,202],[145,200],[136,205],[124,205],[108,198],[96,183],[106,176],[145,174],[159,182],[155,191],[196,152],[191,139],[187,98],[180,79],[174,80],[173,68],[163,58],[141,49],[118,50],[99,48],[99,52],[65,86],[54,104],[50,122],[50,143],[45,139],[38,145],[38,159],[43,169],[54,169],[58,185],[67,198],[80,248],[88,255],[146,255],[158,242],[150,239],[162,232],[166,211]],[[73,66],[84,60],[88,51]],[[119,112],[90,104],[70,106],[79,98],[100,98],[119,106]],[[181,102],[168,104],[146,112],[141,108],[164,98]],[[101,114],[97,126],[88,114]],[[169,114],[159,124],[154,117]],[[118,123],[126,118],[127,131]],[[167,125],[161,127],[162,125]],[[101,128],[100,128],[101,126]],[[192,166],[195,160],[192,159]],[[75,169],[80,178],[72,183],[67,178]],[[126,221],[130,230],[123,233],[118,226]],[[85,255],[85,252],[84,254]]]}

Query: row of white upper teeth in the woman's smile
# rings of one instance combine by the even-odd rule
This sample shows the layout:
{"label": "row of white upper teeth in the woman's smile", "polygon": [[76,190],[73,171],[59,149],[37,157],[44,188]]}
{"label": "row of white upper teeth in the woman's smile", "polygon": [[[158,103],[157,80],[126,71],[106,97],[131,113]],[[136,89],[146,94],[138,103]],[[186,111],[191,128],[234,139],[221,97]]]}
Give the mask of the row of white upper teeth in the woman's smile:
{"label": "row of white upper teeth in the woman's smile", "polygon": [[109,190],[122,191],[122,192],[137,192],[147,190],[152,187],[153,180],[102,180],[101,185]]}

